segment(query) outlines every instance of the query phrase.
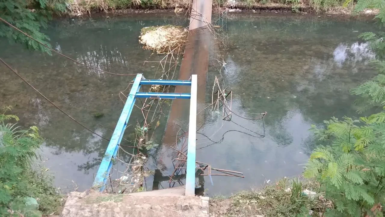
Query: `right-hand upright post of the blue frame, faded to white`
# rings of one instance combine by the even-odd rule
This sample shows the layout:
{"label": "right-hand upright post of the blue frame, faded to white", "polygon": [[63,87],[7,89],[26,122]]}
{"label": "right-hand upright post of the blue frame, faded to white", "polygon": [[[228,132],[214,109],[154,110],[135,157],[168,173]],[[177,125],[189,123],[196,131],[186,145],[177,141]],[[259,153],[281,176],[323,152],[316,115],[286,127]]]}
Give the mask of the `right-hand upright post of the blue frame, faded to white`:
{"label": "right-hand upright post of the blue frame, faded to white", "polygon": [[190,98],[190,122],[189,138],[187,145],[187,169],[186,169],[186,193],[195,195],[195,151],[196,151],[196,94],[198,89],[197,75],[191,76],[191,98]]}

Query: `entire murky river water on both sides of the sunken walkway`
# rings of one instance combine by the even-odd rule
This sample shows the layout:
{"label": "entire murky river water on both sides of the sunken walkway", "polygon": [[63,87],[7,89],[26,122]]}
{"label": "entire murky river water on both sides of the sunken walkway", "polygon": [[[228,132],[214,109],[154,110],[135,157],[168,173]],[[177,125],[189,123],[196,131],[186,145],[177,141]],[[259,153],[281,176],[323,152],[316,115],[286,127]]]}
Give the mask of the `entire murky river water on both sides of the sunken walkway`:
{"label": "entire murky river water on both sides of the sunken walkway", "polygon": [[[143,62],[146,58],[156,61],[160,56],[150,56],[151,51],[141,48],[137,42],[140,29],[186,23],[184,17],[170,14],[107,14],[56,21],[46,32],[55,49],[82,63],[152,78],[156,68],[143,66]],[[210,196],[229,195],[268,180],[299,175],[313,148],[310,125],[322,125],[330,116],[357,116],[355,97],[349,90],[375,74],[368,68],[374,54],[357,39],[361,32],[377,30],[371,19],[241,14],[228,17],[227,30],[229,49],[219,52],[213,45],[211,58],[218,58],[219,52],[227,63],[222,75],[227,89],[233,90],[233,110],[247,119],[254,116],[242,112],[268,114],[264,122],[236,115],[233,122],[224,122],[215,113],[204,112],[205,121],[197,123],[203,124],[199,133],[214,144],[198,134],[197,160],[214,168],[242,171],[246,176],[213,176],[214,186],[206,177],[204,188],[209,189]],[[0,51],[6,62],[59,107],[90,129],[111,136],[122,108],[119,92],[126,89],[132,77],[105,75],[55,54],[31,53],[6,41],[1,42]],[[67,190],[74,188],[74,183],[79,190],[89,188],[107,141],[68,119],[2,65],[0,73],[1,104],[15,106],[13,112],[20,116],[22,125],[40,128],[46,138],[44,165],[54,173],[56,185]],[[208,92],[214,76],[220,77],[211,65]],[[206,99],[211,103],[211,93]],[[94,113],[104,116],[95,118]],[[140,115],[134,110],[132,117]],[[162,121],[160,128],[164,124]],[[163,165],[159,162],[164,159],[156,153],[150,167]],[[164,176],[173,170],[165,166],[158,169]],[[147,180],[149,190],[152,181],[151,177]]]}

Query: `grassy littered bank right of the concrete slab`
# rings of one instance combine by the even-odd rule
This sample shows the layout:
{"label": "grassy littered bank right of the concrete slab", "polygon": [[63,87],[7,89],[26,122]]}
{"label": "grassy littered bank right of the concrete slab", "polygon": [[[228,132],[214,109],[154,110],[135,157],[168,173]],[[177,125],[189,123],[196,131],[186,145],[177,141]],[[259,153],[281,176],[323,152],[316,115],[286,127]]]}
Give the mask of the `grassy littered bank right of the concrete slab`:
{"label": "grassy littered bank right of the concrete slab", "polygon": [[[313,199],[303,193],[317,192]],[[308,217],[320,216],[332,203],[319,192],[316,181],[287,178],[262,189],[239,192],[228,199],[215,197],[210,201],[211,216]]]}

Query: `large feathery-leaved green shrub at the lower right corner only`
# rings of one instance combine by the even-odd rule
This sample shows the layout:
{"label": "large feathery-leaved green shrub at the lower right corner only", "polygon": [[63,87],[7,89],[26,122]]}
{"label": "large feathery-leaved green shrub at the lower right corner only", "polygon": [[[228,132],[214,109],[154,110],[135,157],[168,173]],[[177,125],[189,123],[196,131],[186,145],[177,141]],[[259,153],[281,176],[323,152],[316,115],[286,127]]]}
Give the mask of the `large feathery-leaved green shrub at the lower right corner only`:
{"label": "large feathery-leaved green shrub at the lower right corner only", "polygon": [[368,118],[325,121],[313,131],[329,146],[315,149],[304,175],[316,178],[335,209],[326,216],[357,217],[380,214],[385,198],[385,112]]}

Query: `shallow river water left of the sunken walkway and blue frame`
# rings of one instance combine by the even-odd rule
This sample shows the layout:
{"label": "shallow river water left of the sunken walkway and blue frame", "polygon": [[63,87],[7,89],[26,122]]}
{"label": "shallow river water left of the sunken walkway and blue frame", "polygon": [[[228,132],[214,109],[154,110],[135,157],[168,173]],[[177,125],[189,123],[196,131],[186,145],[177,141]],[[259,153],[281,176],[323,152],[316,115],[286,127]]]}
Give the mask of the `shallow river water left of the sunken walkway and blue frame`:
{"label": "shallow river water left of the sunken walkway and blue frame", "polygon": [[[158,61],[138,43],[144,26],[186,25],[185,17],[173,14],[112,17],[112,14],[84,19],[63,19],[52,22],[46,30],[54,49],[80,63],[119,74],[144,73],[154,77],[153,65]],[[107,17],[107,18],[106,18]],[[27,78],[60,108],[98,134],[110,138],[119,118],[122,102],[119,92],[127,88],[132,76],[107,75],[85,68],[59,55],[49,56],[26,51],[22,46],[0,42],[1,57]],[[157,65],[156,65],[157,66]],[[156,68],[155,68],[156,69]],[[44,165],[54,172],[55,184],[65,191],[76,183],[79,190],[92,185],[108,142],[77,125],[0,65],[0,101],[12,105],[23,126],[37,125],[45,144],[42,148]],[[104,114],[95,118],[95,113]],[[134,109],[131,121],[141,117]],[[159,129],[164,127],[165,121]],[[127,129],[125,137],[131,139]],[[154,137],[160,142],[162,130]],[[125,141],[126,142],[126,141]],[[115,178],[115,175],[114,175]],[[73,182],[72,182],[73,180]]]}

